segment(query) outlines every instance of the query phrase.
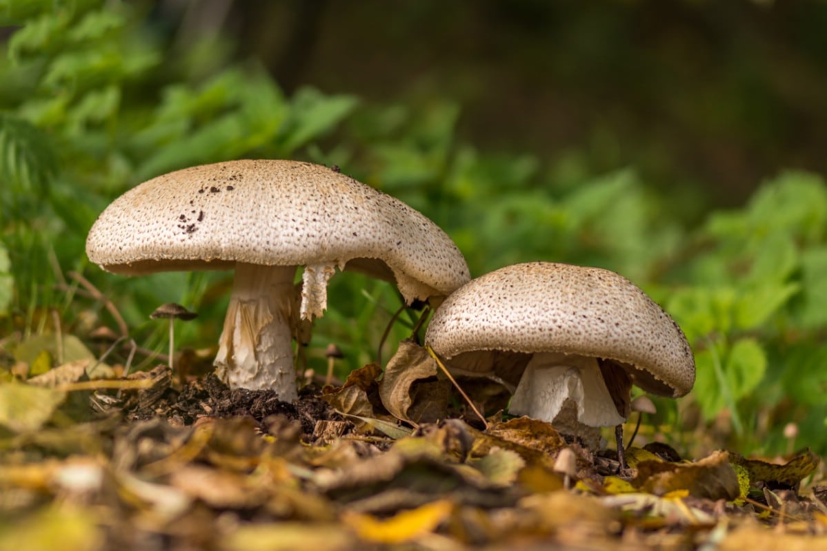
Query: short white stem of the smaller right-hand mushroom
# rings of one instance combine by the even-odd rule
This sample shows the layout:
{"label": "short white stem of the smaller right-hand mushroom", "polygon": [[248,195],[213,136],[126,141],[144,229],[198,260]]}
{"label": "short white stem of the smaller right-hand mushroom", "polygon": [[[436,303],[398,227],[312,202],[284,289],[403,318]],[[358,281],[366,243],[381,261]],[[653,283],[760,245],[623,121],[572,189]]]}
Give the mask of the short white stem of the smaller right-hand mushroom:
{"label": "short white stem of the smaller right-hand mushroom", "polygon": [[[566,411],[569,408],[576,411]],[[614,406],[597,359],[551,352],[534,354],[528,362],[511,398],[509,413],[552,425],[569,424],[571,413],[576,413],[577,423],[589,427],[615,426],[625,421]]]}

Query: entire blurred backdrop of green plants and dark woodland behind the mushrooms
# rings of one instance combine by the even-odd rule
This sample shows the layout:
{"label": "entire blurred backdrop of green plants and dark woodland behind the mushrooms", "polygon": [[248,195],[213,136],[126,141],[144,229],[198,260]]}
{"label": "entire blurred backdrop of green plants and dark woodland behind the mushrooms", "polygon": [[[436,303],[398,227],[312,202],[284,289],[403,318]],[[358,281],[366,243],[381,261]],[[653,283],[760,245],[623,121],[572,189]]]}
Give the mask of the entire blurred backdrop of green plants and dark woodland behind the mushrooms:
{"label": "entire blurred backdrop of green plants and dark woodland behind the mushrooms", "polygon": [[[308,159],[423,211],[474,275],[565,261],[651,293],[698,364],[690,397],[658,401],[673,443],[825,453],[827,12],[670,3],[411,2],[383,26],[371,2],[272,2],[258,17],[241,2],[0,2],[0,374],[34,364],[31,335],[114,326],[73,270],[142,346],[163,349],[148,315],[170,301],[201,313],[178,342],[212,346],[228,273],[111,276],[85,258],[88,228],[159,173]],[[342,373],[375,359],[394,290],[338,276],[330,306],[310,365],[330,342]]]}

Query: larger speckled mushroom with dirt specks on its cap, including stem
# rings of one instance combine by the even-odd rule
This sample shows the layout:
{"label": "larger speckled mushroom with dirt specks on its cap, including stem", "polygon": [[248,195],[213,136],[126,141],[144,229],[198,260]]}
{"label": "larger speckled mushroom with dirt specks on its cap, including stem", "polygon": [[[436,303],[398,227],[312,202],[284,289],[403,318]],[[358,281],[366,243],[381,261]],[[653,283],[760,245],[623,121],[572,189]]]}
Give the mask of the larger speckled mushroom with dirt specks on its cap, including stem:
{"label": "larger speckled mushroom with dirt specks on its cap, including stem", "polygon": [[98,217],[86,253],[127,275],[234,269],[218,375],[285,401],[297,397],[291,339],[327,308],[336,268],[392,281],[408,303],[438,302],[469,279],[457,246],[418,211],[335,170],[288,160],[205,164],[142,183]]}

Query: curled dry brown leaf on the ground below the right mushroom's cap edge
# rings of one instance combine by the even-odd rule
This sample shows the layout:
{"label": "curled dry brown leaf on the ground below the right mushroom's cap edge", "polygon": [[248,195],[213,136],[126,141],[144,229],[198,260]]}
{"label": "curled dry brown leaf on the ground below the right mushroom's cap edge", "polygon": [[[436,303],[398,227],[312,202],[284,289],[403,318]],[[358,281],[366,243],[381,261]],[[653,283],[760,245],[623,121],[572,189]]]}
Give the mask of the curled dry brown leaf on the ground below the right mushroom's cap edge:
{"label": "curled dry brown leaf on the ground below the right mushroom's cap edge", "polygon": [[686,490],[691,496],[730,501],[740,493],[729,454],[723,451],[713,452],[695,463],[643,461],[638,463],[633,485],[656,496]]}

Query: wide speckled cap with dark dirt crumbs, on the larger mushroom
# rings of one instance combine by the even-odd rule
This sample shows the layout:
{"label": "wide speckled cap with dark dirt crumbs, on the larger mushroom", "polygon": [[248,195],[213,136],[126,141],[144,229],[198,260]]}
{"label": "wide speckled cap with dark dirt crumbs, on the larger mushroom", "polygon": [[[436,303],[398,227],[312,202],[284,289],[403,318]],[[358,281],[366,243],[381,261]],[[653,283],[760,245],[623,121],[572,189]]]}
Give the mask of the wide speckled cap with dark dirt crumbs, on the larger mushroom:
{"label": "wide speckled cap with dark dirt crumbs, on the larger mushroom", "polygon": [[141,183],[98,217],[86,254],[127,275],[336,264],[395,281],[408,302],[446,296],[469,279],[457,245],[418,211],[289,160],[204,164]]}

